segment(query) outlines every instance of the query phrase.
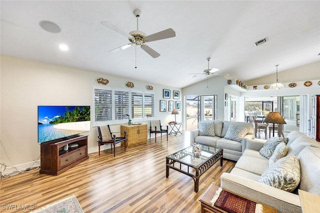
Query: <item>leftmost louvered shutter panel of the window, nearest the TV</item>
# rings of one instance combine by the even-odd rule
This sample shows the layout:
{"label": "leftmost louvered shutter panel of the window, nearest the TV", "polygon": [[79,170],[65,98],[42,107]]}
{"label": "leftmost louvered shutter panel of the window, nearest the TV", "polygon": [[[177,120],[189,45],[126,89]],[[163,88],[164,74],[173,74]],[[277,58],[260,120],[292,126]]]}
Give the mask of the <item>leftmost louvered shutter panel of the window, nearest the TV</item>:
{"label": "leftmost louvered shutter panel of the window, nearest the TV", "polygon": [[94,120],[112,120],[112,90],[94,89]]}

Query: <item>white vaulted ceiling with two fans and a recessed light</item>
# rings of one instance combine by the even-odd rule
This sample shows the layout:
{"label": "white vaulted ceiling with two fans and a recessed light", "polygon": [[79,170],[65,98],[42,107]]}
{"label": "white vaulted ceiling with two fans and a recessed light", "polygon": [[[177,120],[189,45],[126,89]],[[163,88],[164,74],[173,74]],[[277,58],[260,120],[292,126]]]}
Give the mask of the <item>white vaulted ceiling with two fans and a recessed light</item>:
{"label": "white vaulted ceiling with two fans and a recessed light", "polygon": [[[207,68],[242,81],[320,60],[320,1],[0,1],[1,54],[185,87],[205,79]],[[109,51],[128,39],[102,25],[149,35],[172,28],[176,36],[148,42],[161,55],[139,46]],[[51,33],[39,26],[61,27]],[[267,37],[267,42],[254,43]],[[66,43],[68,51],[60,51]],[[137,68],[134,68],[136,61]],[[214,77],[214,75],[210,75]]]}

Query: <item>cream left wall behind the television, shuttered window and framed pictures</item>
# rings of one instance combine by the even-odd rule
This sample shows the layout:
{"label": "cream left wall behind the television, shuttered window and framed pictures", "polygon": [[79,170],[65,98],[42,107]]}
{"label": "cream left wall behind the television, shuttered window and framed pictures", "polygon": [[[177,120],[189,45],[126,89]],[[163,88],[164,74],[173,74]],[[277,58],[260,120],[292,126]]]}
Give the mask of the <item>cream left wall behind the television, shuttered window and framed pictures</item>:
{"label": "cream left wall behind the television, shuttered window and framed pictures", "polygon": [[[21,164],[20,167],[23,168],[27,167],[28,162],[38,159],[40,145],[37,143],[37,106],[92,106],[92,85],[100,85],[95,82],[98,77],[107,78],[107,86],[119,88],[125,87],[127,80],[132,81],[134,89],[138,90],[146,90],[145,86],[151,84],[152,91],[155,92],[155,118],[160,119],[162,124],[173,119],[171,112],[159,111],[159,100],[163,99],[162,89],[171,90],[171,98],[165,100],[182,99],[181,89],[176,87],[5,55],[1,55],[0,59],[0,162],[10,166]],[[172,90],[180,91],[180,99],[172,98]],[[177,120],[182,119],[181,115],[182,113],[176,115]],[[119,129],[119,125],[112,128]],[[96,128],[91,127],[87,134],[89,153],[97,151]]]}

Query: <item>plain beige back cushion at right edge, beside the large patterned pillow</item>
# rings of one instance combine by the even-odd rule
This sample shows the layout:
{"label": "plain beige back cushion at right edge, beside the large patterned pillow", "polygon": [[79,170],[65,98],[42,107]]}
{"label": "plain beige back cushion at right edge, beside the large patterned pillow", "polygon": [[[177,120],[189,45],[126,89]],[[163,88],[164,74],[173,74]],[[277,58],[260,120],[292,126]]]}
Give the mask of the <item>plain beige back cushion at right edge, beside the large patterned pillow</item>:
{"label": "plain beige back cushion at right edge, beside the large patterned pillow", "polygon": [[301,167],[299,188],[314,194],[320,194],[320,148],[306,147],[300,151],[298,159]]}

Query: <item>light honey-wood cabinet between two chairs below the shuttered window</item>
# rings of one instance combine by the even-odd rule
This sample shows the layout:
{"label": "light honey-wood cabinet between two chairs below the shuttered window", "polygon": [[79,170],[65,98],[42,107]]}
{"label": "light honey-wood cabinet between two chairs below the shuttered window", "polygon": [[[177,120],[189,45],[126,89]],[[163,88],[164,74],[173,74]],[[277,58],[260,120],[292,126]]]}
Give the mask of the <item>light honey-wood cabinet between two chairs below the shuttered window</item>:
{"label": "light honey-wood cabinet between two chairs below the shuttered window", "polygon": [[[124,131],[127,133],[126,147],[146,142],[147,140],[147,124],[140,125],[121,125],[121,136]],[[121,142],[121,145],[124,143]]]}

